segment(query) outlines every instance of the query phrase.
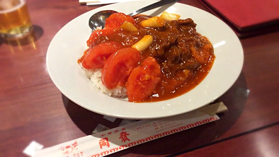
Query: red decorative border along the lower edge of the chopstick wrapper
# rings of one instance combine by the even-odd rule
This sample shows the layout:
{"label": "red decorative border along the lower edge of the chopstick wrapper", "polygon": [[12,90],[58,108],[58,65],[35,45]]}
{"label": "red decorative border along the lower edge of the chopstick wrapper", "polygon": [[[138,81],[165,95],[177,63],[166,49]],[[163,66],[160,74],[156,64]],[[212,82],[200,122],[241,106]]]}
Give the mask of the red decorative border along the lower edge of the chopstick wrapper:
{"label": "red decorative border along the lower edge of the chopstick wrapper", "polygon": [[190,128],[193,128],[195,126],[199,126],[199,125],[202,125],[202,124],[205,124],[205,123],[208,123],[208,122],[212,122],[212,121],[215,121],[217,120],[218,118],[215,118],[215,117],[211,117],[209,119],[205,119],[205,120],[202,120],[202,121],[199,121],[199,122],[195,122],[195,123],[192,123],[192,124],[188,124],[186,126],[181,126],[179,128],[176,128],[176,129],[172,129],[170,131],[166,131],[166,132],[163,132],[163,133],[159,133],[157,135],[154,135],[154,136],[150,136],[150,137],[147,137],[147,138],[143,138],[143,139],[140,139],[140,140],[137,140],[135,142],[130,142],[128,144],[124,144],[120,147],[115,147],[115,148],[112,148],[110,150],[107,150],[107,151],[103,151],[101,153],[98,153],[98,154],[94,154],[92,155],[91,157],[100,157],[100,156],[105,156],[105,155],[108,155],[108,154],[112,154],[112,153],[115,153],[119,150],[122,150],[122,149],[126,149],[126,148],[129,148],[129,147],[133,147],[135,145],[138,145],[138,144],[142,144],[142,143],[145,143],[145,142],[148,142],[148,141],[151,141],[151,140],[155,140],[157,138],[161,138],[161,137],[164,137],[164,136],[167,136],[167,135],[170,135],[170,134],[173,134],[173,133],[177,133],[179,131],[183,131],[183,130],[187,130],[187,129],[190,129]]}

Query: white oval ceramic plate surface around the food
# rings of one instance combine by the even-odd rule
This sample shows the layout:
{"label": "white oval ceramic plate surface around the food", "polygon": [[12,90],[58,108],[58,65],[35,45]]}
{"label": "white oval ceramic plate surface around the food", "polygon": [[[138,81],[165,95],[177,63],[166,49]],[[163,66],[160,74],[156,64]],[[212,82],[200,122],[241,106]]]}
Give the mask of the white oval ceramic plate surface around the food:
{"label": "white oval ceramic plate surface around the food", "polygon": [[[156,16],[163,11],[192,18],[197,32],[208,37],[214,46],[216,59],[208,76],[193,90],[166,101],[131,103],[109,97],[94,89],[77,64],[87,48],[91,34],[90,16],[101,10],[126,14],[142,8],[151,1],[115,3],[91,10],[66,24],[53,38],[47,50],[47,69],[56,87],[71,101],[93,112],[126,119],[151,119],[186,113],[200,108],[224,94],[238,78],[243,65],[243,50],[235,33],[220,19],[201,9],[181,3],[153,9],[143,14]],[[126,6],[126,7],[124,7]]]}

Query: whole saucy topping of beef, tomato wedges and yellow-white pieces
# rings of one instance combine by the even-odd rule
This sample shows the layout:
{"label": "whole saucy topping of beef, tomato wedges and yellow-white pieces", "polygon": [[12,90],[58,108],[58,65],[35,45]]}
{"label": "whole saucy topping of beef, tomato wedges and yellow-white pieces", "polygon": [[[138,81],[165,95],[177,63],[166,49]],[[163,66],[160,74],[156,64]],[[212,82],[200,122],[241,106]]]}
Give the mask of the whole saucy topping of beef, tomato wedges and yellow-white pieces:
{"label": "whole saucy topping of beef, tomato wedges and yellow-white pieces", "polygon": [[[108,80],[113,86],[110,82],[103,84],[108,84],[108,89],[127,85],[129,101],[162,101],[182,95],[207,76],[215,56],[210,41],[196,32],[194,21],[178,16],[166,12],[160,17],[137,15],[132,18],[123,13],[113,14],[106,19],[103,30],[92,33],[87,41],[89,50],[78,62],[85,68],[88,62],[104,63],[105,68],[113,68],[111,76],[108,70],[106,76],[102,75],[102,78],[111,77]],[[117,43],[117,46],[110,43]],[[99,46],[96,53],[95,47],[100,44],[106,44],[106,48]],[[92,49],[94,54],[89,54]],[[111,51],[109,57],[105,53],[108,49]],[[125,57],[127,55],[130,56]],[[135,55],[140,56],[139,60]]]}

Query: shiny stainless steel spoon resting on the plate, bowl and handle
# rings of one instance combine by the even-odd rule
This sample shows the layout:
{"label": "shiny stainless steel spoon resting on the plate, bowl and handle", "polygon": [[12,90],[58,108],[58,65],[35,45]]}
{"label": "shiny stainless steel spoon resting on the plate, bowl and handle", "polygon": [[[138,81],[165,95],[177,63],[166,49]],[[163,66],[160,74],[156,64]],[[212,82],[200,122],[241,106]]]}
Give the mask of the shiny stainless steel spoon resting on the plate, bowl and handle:
{"label": "shiny stainless steel spoon resting on the plate, bowl and handle", "polygon": [[[128,15],[134,16],[134,15],[137,15],[139,13],[145,12],[147,10],[158,8],[160,6],[171,4],[171,3],[174,3],[174,2],[177,2],[177,1],[179,1],[179,0],[161,0],[161,1],[158,1],[156,3],[151,4],[149,6],[146,6],[144,8],[136,10],[133,13],[130,13]],[[95,29],[97,29],[97,27],[100,27],[100,26],[102,26],[102,28],[104,28],[105,27],[105,19],[108,18],[113,13],[117,13],[117,11],[103,10],[103,11],[99,11],[99,12],[93,14],[89,19],[89,23],[88,23],[89,27],[92,30],[95,30]]]}

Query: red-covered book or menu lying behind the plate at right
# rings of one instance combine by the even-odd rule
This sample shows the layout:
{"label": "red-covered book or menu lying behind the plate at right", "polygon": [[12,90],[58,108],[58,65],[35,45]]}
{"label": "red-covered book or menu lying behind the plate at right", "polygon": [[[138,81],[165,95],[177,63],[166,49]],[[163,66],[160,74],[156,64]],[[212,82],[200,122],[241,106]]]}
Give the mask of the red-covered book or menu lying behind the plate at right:
{"label": "red-covered book or menu lying behind the plate at right", "polygon": [[[213,14],[229,22],[237,34],[251,34],[260,28],[279,29],[279,0],[199,0]],[[239,36],[242,36],[239,35]]]}

